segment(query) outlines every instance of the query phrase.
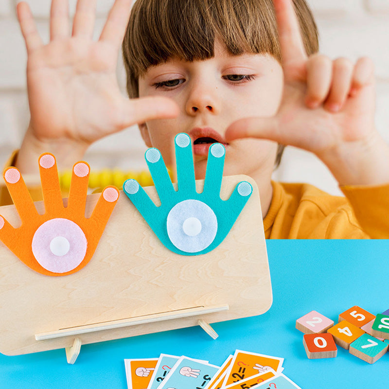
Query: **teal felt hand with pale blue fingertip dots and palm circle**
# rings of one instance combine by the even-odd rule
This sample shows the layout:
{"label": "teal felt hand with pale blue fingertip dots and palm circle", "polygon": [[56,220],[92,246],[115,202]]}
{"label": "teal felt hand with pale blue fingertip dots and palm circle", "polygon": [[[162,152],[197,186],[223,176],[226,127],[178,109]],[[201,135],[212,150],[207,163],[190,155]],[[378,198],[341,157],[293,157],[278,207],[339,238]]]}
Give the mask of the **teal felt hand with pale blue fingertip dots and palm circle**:
{"label": "teal felt hand with pale blue fingertip dots and palm circle", "polygon": [[226,151],[222,144],[214,143],[209,149],[204,190],[197,193],[189,136],[178,134],[175,148],[177,191],[159,150],[150,148],[145,154],[161,201],[159,207],[134,179],[126,180],[123,190],[166,248],[182,255],[205,254],[227,236],[247,203],[252,187],[242,181],[228,200],[220,198]]}

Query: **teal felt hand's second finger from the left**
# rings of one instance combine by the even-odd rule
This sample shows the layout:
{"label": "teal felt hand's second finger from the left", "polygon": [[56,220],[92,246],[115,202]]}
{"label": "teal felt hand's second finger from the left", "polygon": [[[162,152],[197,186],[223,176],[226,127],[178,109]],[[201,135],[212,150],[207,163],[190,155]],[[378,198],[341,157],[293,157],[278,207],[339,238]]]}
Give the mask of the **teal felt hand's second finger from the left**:
{"label": "teal felt hand's second finger from the left", "polygon": [[159,199],[161,203],[163,203],[166,198],[170,198],[175,193],[165,162],[163,161],[159,150],[154,147],[149,148],[144,157],[159,195]]}

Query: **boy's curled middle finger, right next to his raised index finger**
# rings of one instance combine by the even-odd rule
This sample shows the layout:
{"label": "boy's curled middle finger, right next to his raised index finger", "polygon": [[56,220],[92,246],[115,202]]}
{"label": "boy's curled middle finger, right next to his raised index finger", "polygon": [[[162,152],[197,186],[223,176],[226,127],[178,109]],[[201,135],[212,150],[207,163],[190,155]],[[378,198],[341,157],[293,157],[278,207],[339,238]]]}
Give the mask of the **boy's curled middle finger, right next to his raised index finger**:
{"label": "boy's curled middle finger, right next to his raised index finger", "polygon": [[331,87],[332,61],[325,55],[312,55],[307,63],[307,91],[305,104],[317,108],[327,98]]}

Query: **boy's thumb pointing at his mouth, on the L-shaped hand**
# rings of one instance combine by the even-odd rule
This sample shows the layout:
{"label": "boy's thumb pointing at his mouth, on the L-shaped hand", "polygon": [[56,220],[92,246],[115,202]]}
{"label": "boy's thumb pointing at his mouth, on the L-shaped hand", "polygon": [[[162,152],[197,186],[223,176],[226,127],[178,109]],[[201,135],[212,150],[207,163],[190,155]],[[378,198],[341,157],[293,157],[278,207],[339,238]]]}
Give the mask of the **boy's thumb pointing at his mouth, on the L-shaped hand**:
{"label": "boy's thumb pointing at his mouth, on the L-shaped hand", "polygon": [[225,133],[226,141],[241,138],[260,138],[283,143],[276,116],[269,118],[245,118],[230,124]]}

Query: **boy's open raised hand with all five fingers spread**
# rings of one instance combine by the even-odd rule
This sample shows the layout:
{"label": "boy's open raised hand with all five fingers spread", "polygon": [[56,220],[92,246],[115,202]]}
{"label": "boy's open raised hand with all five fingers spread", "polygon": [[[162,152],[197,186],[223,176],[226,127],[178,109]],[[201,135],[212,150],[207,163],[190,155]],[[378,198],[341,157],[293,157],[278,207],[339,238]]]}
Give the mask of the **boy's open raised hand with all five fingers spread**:
{"label": "boy's open raised hand with all five fingers spread", "polygon": [[[92,40],[96,0],[78,0],[72,31],[68,0],[52,0],[50,42],[43,44],[27,3],[17,6],[27,61],[31,121],[17,166],[53,152],[59,167],[71,166],[98,139],[132,124],[177,115],[164,98],[129,100],[119,89],[116,64],[132,0],[116,0],[98,41]],[[35,158],[36,157],[36,158]]]}

